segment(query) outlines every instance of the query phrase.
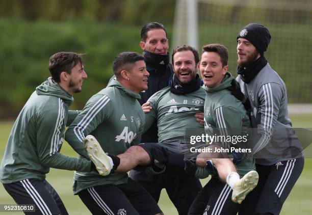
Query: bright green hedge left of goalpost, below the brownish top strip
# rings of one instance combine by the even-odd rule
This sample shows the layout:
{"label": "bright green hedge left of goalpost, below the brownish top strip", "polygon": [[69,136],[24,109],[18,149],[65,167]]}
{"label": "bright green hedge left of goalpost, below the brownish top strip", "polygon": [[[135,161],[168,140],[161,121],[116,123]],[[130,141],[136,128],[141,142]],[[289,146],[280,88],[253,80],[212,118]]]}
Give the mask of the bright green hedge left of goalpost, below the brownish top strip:
{"label": "bright green hedge left of goalpost, below the brownish top strip", "polygon": [[59,23],[0,19],[0,29],[0,118],[16,117],[35,87],[50,75],[49,58],[56,52],[86,53],[88,79],[83,91],[74,95],[72,109],[82,109],[93,94],[106,87],[113,75],[112,62],[119,52],[142,52],[141,26],[82,20]]}

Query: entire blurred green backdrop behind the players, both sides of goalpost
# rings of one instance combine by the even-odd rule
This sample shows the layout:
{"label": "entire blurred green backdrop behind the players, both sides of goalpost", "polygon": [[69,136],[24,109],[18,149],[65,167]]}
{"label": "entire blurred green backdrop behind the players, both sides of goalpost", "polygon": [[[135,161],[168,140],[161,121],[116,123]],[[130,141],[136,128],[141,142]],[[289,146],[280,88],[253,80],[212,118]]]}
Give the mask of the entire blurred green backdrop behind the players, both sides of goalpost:
{"label": "entire blurred green backdrop behind the players, both sides of goalpost", "polygon": [[[229,69],[236,75],[237,34],[249,22],[262,23],[272,34],[265,56],[283,78],[289,102],[312,103],[311,0],[197,2],[200,47],[224,44]],[[117,53],[142,52],[144,24],[163,23],[170,48],[186,43],[187,11],[185,0],[0,0],[0,119],[17,116],[35,87],[50,75],[49,57],[59,51],[86,54],[89,77],[71,106],[82,109],[90,96],[106,87]]]}

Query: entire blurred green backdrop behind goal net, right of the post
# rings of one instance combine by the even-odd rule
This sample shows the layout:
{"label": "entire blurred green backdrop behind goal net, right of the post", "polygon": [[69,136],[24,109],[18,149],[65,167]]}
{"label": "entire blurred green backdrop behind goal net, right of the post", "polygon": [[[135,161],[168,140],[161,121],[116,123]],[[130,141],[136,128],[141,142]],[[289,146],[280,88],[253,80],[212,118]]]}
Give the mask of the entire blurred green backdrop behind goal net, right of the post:
{"label": "entire blurred green backdrop behind goal net, right of the post", "polygon": [[[187,16],[186,10],[178,7],[178,20]],[[264,55],[287,86],[289,103],[311,103],[311,20],[311,0],[198,1],[199,47],[224,44],[229,50],[229,70],[236,75],[236,37],[248,23],[261,23],[272,36]],[[185,31],[184,25],[174,27]]]}

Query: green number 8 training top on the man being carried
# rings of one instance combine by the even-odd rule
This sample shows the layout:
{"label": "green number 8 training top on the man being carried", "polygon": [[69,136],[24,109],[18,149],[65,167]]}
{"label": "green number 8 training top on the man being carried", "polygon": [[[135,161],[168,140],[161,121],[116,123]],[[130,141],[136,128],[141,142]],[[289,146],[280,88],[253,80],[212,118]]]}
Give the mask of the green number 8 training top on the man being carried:
{"label": "green number 8 training top on the man being carried", "polygon": [[154,95],[148,101],[152,107],[145,114],[145,128],[157,121],[158,142],[172,142],[190,140],[187,128],[203,129],[195,118],[196,113],[203,112],[205,91],[202,88],[191,93],[177,95],[166,87]]}

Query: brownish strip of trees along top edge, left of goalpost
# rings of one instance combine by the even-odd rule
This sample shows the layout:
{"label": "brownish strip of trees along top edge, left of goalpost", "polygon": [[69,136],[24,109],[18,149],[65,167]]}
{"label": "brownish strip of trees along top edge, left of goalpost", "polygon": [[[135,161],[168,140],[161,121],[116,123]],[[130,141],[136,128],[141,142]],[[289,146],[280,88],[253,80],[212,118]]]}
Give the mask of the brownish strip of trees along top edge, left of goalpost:
{"label": "brownish strip of trees along top edge, left of goalpost", "polygon": [[[27,20],[88,19],[143,25],[171,24],[175,0],[0,0],[0,17]],[[160,16],[161,14],[161,16]]]}

